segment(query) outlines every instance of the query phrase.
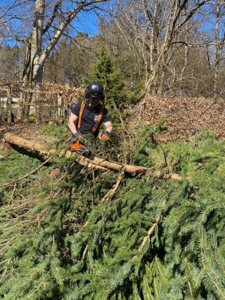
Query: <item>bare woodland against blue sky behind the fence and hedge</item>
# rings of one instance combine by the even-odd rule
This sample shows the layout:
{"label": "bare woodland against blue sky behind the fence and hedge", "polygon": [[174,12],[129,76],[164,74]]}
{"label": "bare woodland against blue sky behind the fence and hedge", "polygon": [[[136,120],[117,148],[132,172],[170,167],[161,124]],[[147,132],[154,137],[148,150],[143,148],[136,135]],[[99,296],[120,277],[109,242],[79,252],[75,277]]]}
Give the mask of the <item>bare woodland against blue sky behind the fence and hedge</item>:
{"label": "bare woodland against blue sky behind the fence and hedge", "polygon": [[[50,81],[79,87],[103,47],[127,89],[224,95],[222,0],[1,0],[0,8],[2,78],[23,86]],[[77,31],[88,17],[95,22],[89,32]]]}

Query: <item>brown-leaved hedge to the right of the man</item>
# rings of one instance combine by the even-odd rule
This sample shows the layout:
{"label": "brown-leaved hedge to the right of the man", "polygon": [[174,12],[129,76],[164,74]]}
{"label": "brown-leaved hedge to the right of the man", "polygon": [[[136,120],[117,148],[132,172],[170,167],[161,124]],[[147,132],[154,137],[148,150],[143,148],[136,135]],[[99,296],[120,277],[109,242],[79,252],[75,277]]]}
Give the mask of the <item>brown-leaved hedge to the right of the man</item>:
{"label": "brown-leaved hedge to the right of the man", "polygon": [[160,136],[161,141],[191,138],[199,127],[210,128],[215,136],[225,137],[225,106],[221,98],[145,97],[133,108],[130,123],[142,125],[166,116],[165,125],[172,130]]}

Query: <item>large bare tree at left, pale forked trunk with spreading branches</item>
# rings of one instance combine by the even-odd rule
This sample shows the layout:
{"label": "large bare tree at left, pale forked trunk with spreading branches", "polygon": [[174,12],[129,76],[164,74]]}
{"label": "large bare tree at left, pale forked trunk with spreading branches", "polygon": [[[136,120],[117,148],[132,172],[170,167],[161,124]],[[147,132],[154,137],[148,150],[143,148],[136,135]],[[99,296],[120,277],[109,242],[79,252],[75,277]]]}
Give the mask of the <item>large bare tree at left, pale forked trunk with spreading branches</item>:
{"label": "large bare tree at left, pale forked trunk with spreading branches", "polygon": [[[95,9],[97,3],[104,1],[107,0],[35,0],[33,4],[33,1],[14,0],[13,4],[5,5],[1,23],[16,41],[26,44],[24,88],[41,84],[46,59],[77,14]],[[13,29],[15,19],[21,21],[17,31]]]}

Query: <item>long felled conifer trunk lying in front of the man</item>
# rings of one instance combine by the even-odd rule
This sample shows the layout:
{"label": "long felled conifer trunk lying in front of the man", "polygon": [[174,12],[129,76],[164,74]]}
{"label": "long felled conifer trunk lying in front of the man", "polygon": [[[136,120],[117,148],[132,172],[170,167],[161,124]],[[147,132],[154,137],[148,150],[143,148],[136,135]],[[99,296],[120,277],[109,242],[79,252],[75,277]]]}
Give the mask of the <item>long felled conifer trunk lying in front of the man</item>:
{"label": "long felled conifer trunk lying in front of the man", "polygon": [[[85,156],[82,156],[75,152],[71,152],[69,150],[61,151],[58,153],[57,153],[56,149],[45,150],[44,145],[39,144],[34,141],[31,141],[31,140],[28,140],[28,139],[25,139],[20,136],[14,135],[10,132],[6,132],[4,134],[4,141],[9,144],[15,144],[19,147],[23,147],[25,149],[35,150],[35,151],[38,151],[38,152],[40,152],[42,154],[46,154],[46,155],[57,154],[58,156],[65,156],[65,157],[74,156],[75,160],[78,163],[85,165],[87,167],[94,167],[94,168],[102,169],[102,170],[114,169],[117,171],[120,171],[121,169],[123,169],[125,172],[130,173],[130,174],[144,173],[149,170],[149,168],[144,167],[144,166],[124,164],[124,163],[120,163],[120,162],[116,162],[116,161],[109,161],[104,158],[96,157],[96,156],[87,158]],[[153,173],[154,172],[152,172],[152,174]],[[183,180],[184,179],[179,174],[161,173],[160,171],[156,171],[154,173],[154,176],[161,178],[163,180],[168,180],[170,178],[175,179],[175,180]],[[189,177],[186,177],[186,179],[189,179]]]}

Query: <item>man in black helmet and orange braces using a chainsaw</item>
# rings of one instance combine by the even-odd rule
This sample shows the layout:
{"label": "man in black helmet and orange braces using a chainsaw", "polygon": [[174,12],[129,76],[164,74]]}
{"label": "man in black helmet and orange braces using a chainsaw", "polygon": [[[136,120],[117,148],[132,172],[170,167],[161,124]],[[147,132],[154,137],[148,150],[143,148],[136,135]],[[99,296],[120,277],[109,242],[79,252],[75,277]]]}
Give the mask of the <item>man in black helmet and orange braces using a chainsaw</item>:
{"label": "man in black helmet and orange braces using a chainsaw", "polygon": [[[68,127],[73,136],[69,142],[71,151],[86,152],[85,134],[92,133],[95,138],[108,140],[112,131],[111,117],[100,101],[104,100],[104,89],[99,82],[91,82],[85,90],[85,100],[72,107]],[[101,123],[105,131],[98,135]],[[83,142],[82,142],[83,141]]]}

